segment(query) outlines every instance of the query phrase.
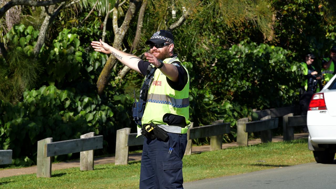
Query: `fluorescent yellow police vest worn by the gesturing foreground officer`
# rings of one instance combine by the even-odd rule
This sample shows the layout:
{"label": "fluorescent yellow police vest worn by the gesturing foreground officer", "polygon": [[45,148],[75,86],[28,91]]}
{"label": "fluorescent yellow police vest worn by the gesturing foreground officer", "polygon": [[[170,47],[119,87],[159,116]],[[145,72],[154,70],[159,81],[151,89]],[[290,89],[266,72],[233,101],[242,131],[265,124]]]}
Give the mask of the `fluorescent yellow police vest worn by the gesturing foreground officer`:
{"label": "fluorescent yellow police vest worn by the gesturing foreground officer", "polygon": [[[163,61],[166,64],[172,64],[173,62],[182,63],[178,59],[168,58]],[[156,69],[154,73],[154,80],[149,88],[146,107],[142,116],[141,123],[149,124],[151,122],[157,124],[164,130],[170,133],[185,134],[191,124],[189,118],[189,73],[183,66],[187,75],[188,81],[181,91],[172,89],[166,76],[160,69]],[[186,126],[172,126],[163,122],[163,116],[167,113],[184,116]],[[138,125],[138,136],[140,135],[141,127]]]}

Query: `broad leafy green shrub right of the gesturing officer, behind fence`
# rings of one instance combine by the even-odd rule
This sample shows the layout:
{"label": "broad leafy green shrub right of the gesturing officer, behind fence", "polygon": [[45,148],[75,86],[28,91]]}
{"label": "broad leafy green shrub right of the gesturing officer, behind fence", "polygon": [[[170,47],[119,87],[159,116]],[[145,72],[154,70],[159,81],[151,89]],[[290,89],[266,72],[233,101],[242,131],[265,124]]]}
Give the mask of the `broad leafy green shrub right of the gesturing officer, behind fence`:
{"label": "broad leafy green shrub right of the gesturing officer, behind fence", "polygon": [[232,141],[236,120],[255,116],[252,109],[290,106],[298,101],[302,75],[292,52],[242,41],[229,49],[219,47],[212,54],[208,60],[212,65],[186,64],[191,72],[191,120],[196,125],[224,119],[232,126],[232,135],[224,139]]}

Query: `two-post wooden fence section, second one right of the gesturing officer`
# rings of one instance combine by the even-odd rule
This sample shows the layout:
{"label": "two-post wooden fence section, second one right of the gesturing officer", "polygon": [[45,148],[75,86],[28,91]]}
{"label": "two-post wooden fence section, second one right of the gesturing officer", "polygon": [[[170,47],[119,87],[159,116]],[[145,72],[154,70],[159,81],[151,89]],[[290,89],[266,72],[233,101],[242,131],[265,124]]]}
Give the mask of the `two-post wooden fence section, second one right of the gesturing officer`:
{"label": "two-post wooden fence section, second one right of the gesturing officer", "polygon": [[248,145],[248,133],[261,132],[261,142],[267,143],[272,141],[271,129],[278,127],[278,118],[271,118],[270,115],[261,118],[260,121],[248,122],[248,118],[237,121],[237,144],[238,146]]}

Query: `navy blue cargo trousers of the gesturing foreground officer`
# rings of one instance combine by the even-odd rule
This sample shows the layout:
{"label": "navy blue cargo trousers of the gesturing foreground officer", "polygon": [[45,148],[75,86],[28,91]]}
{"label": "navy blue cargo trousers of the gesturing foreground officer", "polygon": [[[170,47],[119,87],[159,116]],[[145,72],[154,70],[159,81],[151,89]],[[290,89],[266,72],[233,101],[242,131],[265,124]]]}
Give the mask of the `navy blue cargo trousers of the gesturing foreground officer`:
{"label": "navy blue cargo trousers of the gesturing foreground officer", "polygon": [[183,189],[182,158],[187,134],[167,133],[168,141],[144,139],[140,189]]}

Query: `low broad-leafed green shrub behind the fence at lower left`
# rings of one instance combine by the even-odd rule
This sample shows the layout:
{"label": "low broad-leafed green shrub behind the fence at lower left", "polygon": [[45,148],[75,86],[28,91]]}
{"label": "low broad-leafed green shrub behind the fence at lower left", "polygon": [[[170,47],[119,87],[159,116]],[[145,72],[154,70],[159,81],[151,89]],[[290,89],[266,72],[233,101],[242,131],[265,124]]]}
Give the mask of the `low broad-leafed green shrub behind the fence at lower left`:
{"label": "low broad-leafed green shrub behind the fence at lower left", "polygon": [[[74,88],[59,90],[53,85],[26,91],[23,102],[15,106],[1,102],[0,148],[13,150],[13,159],[33,161],[36,161],[37,141],[44,138],[63,141],[95,132],[109,141],[109,137],[114,138],[114,114],[120,114],[121,110],[111,103],[102,103],[99,96],[78,95]],[[108,146],[105,142],[104,153],[108,153]],[[60,159],[55,157],[55,160]],[[22,164],[22,161],[15,163]]]}

